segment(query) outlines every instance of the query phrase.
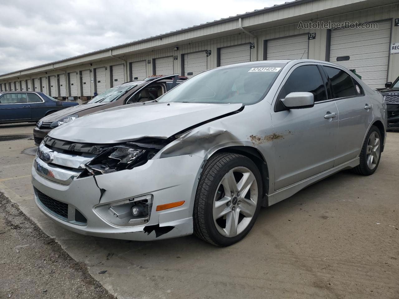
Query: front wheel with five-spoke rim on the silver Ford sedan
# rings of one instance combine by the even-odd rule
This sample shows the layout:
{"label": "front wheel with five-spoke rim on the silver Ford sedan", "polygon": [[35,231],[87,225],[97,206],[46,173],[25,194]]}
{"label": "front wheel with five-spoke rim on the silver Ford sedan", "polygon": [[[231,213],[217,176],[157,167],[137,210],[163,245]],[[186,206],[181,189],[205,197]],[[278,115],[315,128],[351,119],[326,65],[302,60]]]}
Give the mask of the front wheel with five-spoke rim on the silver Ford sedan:
{"label": "front wheel with five-spoke rim on the silver Ford sedan", "polygon": [[216,246],[238,242],[255,223],[261,195],[261,175],[251,159],[236,153],[214,155],[198,183],[194,234]]}

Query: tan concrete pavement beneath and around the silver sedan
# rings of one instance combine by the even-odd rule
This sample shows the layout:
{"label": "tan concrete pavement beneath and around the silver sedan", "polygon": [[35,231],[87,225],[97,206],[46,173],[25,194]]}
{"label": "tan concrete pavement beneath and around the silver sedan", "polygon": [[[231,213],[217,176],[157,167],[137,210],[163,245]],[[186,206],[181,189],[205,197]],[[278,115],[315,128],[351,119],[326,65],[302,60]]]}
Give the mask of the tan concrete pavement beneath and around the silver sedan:
{"label": "tan concrete pavement beneath and around the silver sedan", "polygon": [[[31,135],[33,128],[0,125],[0,135]],[[0,142],[0,191],[118,298],[394,299],[398,149],[399,132],[388,133],[374,175],[343,171],[262,209],[249,235],[228,248],[194,236],[127,242],[61,228],[34,204],[29,138]]]}

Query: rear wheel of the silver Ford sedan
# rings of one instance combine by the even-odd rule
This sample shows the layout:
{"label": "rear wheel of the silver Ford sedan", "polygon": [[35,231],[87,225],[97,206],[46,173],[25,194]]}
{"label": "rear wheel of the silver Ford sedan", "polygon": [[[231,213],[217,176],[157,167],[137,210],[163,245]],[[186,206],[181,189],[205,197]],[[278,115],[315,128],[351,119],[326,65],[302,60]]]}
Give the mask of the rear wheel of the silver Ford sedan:
{"label": "rear wheel of the silver Ford sedan", "polygon": [[359,165],[353,170],[359,175],[372,175],[379,165],[382,147],[381,132],[371,126],[360,151]]}

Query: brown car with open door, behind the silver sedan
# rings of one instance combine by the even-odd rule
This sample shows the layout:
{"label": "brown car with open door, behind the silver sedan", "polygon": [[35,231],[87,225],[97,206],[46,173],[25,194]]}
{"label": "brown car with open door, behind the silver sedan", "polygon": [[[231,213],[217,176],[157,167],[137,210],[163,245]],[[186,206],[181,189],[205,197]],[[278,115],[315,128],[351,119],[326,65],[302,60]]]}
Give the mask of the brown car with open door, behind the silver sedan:
{"label": "brown car with open door, behind the silver sedan", "polygon": [[35,144],[39,146],[47,133],[61,124],[115,106],[155,100],[186,79],[187,77],[178,75],[153,76],[105,90],[85,104],[66,108],[41,118],[33,129]]}

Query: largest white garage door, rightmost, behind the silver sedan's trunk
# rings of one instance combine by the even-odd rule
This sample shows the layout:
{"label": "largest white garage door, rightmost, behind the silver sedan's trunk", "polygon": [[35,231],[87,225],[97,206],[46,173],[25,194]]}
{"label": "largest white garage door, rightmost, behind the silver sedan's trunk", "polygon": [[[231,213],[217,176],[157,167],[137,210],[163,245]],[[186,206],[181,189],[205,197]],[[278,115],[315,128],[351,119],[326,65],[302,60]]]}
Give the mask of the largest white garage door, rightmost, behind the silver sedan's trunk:
{"label": "largest white garage door, rightmost, behind the silver sedan's trunk", "polygon": [[[331,31],[330,61],[356,73],[371,88],[383,88],[387,80],[391,21],[379,22],[378,29]],[[347,61],[337,57],[349,56]]]}

